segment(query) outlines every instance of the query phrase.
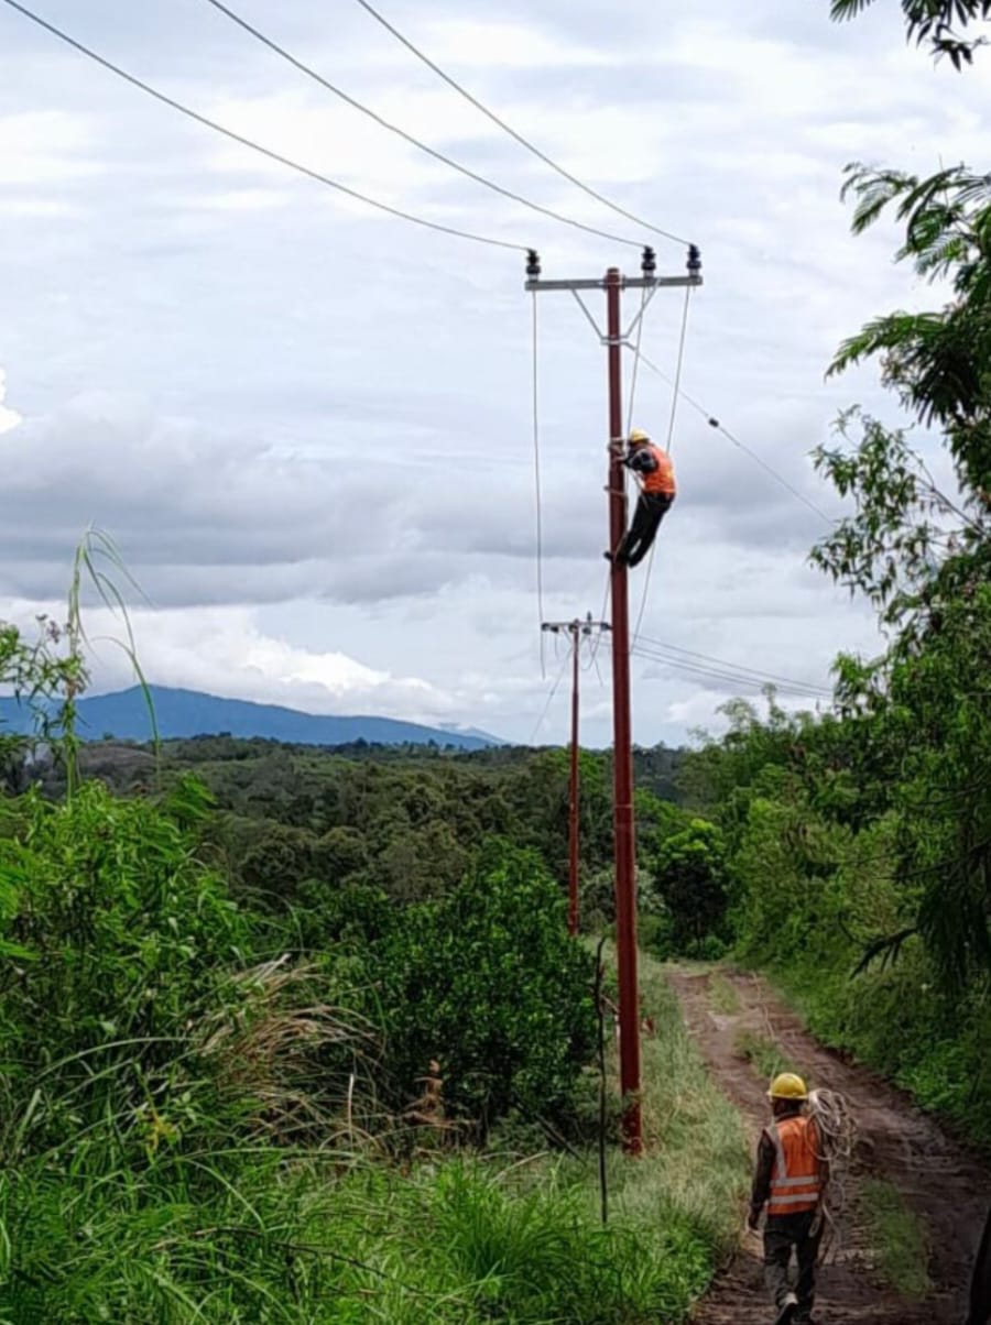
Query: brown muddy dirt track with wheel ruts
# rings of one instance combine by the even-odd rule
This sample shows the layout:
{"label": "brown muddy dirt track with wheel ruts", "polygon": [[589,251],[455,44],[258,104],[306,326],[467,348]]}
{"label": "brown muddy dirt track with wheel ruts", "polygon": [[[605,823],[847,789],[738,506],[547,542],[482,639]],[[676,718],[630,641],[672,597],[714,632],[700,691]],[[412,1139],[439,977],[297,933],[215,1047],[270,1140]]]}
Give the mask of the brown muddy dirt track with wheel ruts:
{"label": "brown muddy dirt track with wheel ruts", "polygon": [[[713,1008],[706,971],[674,970],[670,980],[702,1056],[743,1114],[751,1146],[767,1121],[767,1100],[766,1084],[737,1049],[738,1036],[747,1030],[780,1044],[815,1084],[841,1092],[857,1121],[845,1208],[837,1244],[820,1273],[816,1316],[823,1325],[962,1325],[991,1175],[905,1096],[817,1044],[763,982],[727,971],[721,975],[735,990],[738,1011]],[[859,1189],[869,1174],[893,1182],[927,1230],[933,1291],[925,1302],[905,1301],[878,1275],[857,1215]],[[758,1239],[742,1236],[734,1263],[698,1306],[698,1325],[767,1325],[772,1320],[759,1255]]]}

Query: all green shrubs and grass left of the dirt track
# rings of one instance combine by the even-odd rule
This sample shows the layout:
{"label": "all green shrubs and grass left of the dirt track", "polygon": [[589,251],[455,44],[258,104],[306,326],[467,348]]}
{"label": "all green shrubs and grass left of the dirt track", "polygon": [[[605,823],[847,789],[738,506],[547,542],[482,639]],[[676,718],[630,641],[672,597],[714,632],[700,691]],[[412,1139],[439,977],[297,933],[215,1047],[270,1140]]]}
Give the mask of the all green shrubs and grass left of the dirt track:
{"label": "all green shrubs and grass left of the dirt track", "polygon": [[511,800],[454,871],[443,798],[387,776],[440,868],[376,884],[355,807],[380,770],[335,761],[335,823],[297,873],[289,824],[246,844],[154,750],[131,791],[81,771],[69,615],[0,633],[0,682],[48,705],[41,765],[0,737],[0,1318],[684,1320],[735,1223],[737,1120],[648,969],[653,1147],[617,1149],[607,1015],[603,1224],[596,961]]}

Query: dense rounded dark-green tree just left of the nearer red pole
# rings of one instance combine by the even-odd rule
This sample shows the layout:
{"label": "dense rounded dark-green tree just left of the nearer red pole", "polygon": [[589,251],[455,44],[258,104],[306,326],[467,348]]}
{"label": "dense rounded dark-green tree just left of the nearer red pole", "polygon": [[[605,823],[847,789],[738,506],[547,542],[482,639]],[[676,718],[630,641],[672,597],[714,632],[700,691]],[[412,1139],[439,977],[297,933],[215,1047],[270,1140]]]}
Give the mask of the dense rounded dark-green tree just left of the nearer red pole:
{"label": "dense rounded dark-green tree just left of the nearer red pole", "polygon": [[493,841],[461,888],[409,908],[367,954],[400,1098],[440,1063],[444,1098],[482,1132],[556,1117],[595,1044],[592,959],[539,857]]}

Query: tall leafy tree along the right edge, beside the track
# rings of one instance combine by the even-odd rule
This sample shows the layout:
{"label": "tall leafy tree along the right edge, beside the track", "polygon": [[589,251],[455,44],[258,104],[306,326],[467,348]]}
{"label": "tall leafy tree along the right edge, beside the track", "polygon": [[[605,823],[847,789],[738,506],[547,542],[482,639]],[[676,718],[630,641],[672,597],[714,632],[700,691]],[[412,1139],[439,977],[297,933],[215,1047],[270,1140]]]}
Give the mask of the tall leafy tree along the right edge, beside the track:
{"label": "tall leafy tree along the right edge, beside the track", "polygon": [[962,982],[991,969],[991,183],[963,168],[919,182],[853,167],[848,188],[856,229],[896,208],[900,260],[953,289],[939,309],[869,323],[833,371],[878,358],[904,408],[939,431],[957,490],[937,485],[905,432],[852,413],[847,445],[816,462],[856,510],[813,559],[889,631],[876,662],[841,660],[837,694],[885,753],[898,876],[943,977]]}

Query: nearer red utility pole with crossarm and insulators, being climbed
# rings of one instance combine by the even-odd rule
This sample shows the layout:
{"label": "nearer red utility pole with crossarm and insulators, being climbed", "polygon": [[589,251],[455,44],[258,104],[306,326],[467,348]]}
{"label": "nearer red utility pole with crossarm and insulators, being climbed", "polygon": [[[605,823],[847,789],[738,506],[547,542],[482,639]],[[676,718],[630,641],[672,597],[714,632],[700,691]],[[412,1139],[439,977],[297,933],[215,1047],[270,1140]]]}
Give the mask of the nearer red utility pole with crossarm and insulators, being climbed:
{"label": "nearer red utility pole with crossarm and insulators, being climbed", "polygon": [[[623,347],[633,348],[631,334],[658,289],[702,284],[702,261],[696,245],[688,250],[688,276],[661,276],[652,248],[645,248],[639,277],[609,268],[604,278],[542,281],[541,260],[531,249],[526,264],[526,289],[534,294],[566,290],[574,295],[607,348],[609,384],[609,553],[627,531],[627,470],[623,429]],[[643,290],[639,314],[623,331],[623,290]],[[605,292],[605,334],[590,313],[583,290]],[[616,863],[616,961],[619,966],[620,1089],[627,1108],[623,1142],[631,1154],[644,1147],[640,1109],[640,991],[636,939],[636,839],[633,825],[633,753],[629,712],[629,602],[627,567],[612,562],[612,757],[613,757],[613,849]]]}

